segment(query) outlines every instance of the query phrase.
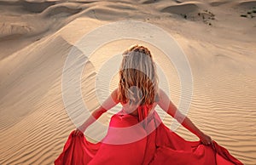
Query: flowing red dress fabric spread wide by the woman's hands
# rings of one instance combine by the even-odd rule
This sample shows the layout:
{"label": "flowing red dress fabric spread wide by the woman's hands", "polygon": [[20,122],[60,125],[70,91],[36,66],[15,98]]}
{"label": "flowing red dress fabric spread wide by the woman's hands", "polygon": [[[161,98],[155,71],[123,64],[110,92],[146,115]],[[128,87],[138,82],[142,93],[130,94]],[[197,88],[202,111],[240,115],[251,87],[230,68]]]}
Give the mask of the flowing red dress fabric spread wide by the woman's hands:
{"label": "flowing red dress fabric spread wide by the woman's hands", "polygon": [[[129,128],[120,133],[112,128]],[[143,137],[131,143],[116,145],[115,140]],[[110,142],[110,143],[109,143]],[[212,145],[202,145],[200,141],[187,141],[172,132],[160,120],[156,111],[148,114],[147,106],[138,108],[138,117],[125,111],[111,117],[108,134],[102,141],[90,143],[84,134],[69,135],[64,149],[55,160],[61,164],[121,164],[121,165],[241,165],[242,163],[224,147],[212,141]]]}

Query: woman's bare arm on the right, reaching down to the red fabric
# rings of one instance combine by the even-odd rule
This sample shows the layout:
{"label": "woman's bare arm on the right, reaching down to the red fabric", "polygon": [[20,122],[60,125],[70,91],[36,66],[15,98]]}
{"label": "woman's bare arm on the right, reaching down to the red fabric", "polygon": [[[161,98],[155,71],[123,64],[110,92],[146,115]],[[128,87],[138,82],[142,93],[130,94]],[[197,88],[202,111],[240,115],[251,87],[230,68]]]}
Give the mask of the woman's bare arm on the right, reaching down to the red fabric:
{"label": "woman's bare arm on the right, reaching down to the red fabric", "polygon": [[172,104],[172,101],[168,98],[162,89],[159,90],[159,96],[160,100],[158,105],[160,105],[164,111],[174,117],[177,122],[180,122],[184,128],[187,128],[191,133],[195,134],[199,139],[201,139],[201,142],[204,145],[210,145],[212,143],[211,137],[201,132],[201,130],[197,128],[193,122],[190,121],[189,117],[184,116],[180,111],[178,111],[177,107]]}

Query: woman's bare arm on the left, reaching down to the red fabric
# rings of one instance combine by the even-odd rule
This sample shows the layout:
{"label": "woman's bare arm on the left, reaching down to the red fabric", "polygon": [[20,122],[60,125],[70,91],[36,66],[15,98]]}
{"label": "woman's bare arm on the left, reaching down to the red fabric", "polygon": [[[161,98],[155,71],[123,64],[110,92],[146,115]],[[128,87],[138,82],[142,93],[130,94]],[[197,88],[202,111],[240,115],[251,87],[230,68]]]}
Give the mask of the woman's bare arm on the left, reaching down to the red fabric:
{"label": "woman's bare arm on the left, reaching down to the red fabric", "polygon": [[113,108],[113,106],[117,105],[118,103],[118,89],[115,89],[112,94],[108,96],[108,99],[105,100],[103,104],[96,109],[96,111],[93,111],[91,116],[81,126],[79,126],[79,128],[77,128],[76,134],[78,134],[79,131],[84,133],[86,128],[88,128],[91,123],[95,122],[99,117],[102,116],[103,113]]}

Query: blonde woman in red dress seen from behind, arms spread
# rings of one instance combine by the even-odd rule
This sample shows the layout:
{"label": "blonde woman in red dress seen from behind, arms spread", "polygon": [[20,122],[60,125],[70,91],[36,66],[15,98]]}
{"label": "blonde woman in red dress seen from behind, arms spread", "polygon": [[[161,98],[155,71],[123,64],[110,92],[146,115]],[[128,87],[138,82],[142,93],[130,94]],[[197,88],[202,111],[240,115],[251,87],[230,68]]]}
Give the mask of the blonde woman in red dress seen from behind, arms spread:
{"label": "blonde woman in red dress seen from behind, arms spread", "polygon": [[[123,105],[111,117],[108,134],[93,144],[84,131],[114,105]],[[154,111],[160,105],[200,141],[186,141],[169,128]],[[137,126],[137,127],[132,127]],[[114,128],[131,128],[119,132]],[[132,155],[131,155],[132,153]],[[158,88],[152,54],[135,45],[123,53],[119,87],[92,115],[73,131],[55,164],[242,164],[185,117]]]}

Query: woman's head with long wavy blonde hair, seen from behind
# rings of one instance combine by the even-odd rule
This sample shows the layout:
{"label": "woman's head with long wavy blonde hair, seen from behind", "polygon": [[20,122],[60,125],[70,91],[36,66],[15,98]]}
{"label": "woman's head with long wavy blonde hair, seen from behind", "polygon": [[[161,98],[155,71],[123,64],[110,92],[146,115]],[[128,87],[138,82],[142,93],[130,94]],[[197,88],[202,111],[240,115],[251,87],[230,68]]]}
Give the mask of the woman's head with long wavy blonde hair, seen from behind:
{"label": "woman's head with long wavy blonde hair, seen from behind", "polygon": [[148,48],[135,45],[125,50],[119,69],[119,100],[130,105],[151,105],[157,89],[156,67]]}

